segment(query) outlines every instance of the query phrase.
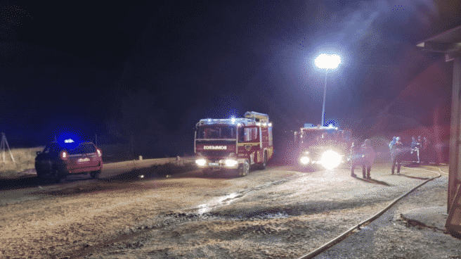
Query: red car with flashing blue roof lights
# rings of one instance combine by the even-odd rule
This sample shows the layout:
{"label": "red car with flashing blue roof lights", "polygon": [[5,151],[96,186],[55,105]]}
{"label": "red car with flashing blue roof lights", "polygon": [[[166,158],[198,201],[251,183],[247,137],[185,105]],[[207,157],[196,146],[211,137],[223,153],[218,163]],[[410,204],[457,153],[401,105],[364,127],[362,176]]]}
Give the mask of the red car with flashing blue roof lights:
{"label": "red car with flashing blue roof lights", "polygon": [[91,142],[82,142],[78,146],[72,142],[72,139],[66,139],[64,144],[53,142],[38,151],[35,158],[37,177],[49,176],[60,182],[67,175],[89,173],[92,178],[98,178],[103,168],[103,151]]}

